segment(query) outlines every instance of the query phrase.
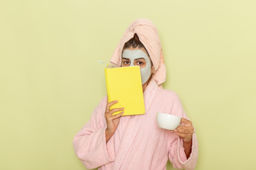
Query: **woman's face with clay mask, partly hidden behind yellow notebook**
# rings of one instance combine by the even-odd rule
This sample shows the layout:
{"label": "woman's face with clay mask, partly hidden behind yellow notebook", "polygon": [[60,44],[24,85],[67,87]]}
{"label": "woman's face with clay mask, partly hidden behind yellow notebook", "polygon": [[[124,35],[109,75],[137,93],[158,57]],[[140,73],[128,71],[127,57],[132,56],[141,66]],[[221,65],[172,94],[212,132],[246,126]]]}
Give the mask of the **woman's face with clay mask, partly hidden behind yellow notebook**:
{"label": "woman's face with clay mask, partly hidden behind yellow notebook", "polygon": [[142,85],[148,82],[153,72],[150,57],[144,48],[125,49],[122,55],[122,67],[126,66],[140,67]]}

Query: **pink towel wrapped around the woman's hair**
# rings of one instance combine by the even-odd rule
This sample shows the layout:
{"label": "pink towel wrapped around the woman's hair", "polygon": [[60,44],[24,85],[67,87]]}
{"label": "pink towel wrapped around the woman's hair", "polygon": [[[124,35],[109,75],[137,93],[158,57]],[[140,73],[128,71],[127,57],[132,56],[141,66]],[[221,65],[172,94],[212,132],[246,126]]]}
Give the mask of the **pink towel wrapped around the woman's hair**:
{"label": "pink towel wrapped around the woman's hair", "polygon": [[137,19],[128,26],[121,38],[114,54],[110,60],[111,63],[121,66],[122,51],[124,44],[137,34],[139,40],[146,47],[150,59],[155,67],[155,74],[152,76],[157,84],[162,84],[166,80],[166,67],[164,64],[164,57],[162,53],[162,46],[159,39],[157,27],[148,19]]}

